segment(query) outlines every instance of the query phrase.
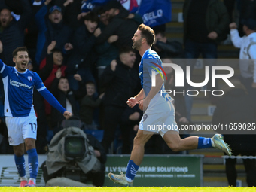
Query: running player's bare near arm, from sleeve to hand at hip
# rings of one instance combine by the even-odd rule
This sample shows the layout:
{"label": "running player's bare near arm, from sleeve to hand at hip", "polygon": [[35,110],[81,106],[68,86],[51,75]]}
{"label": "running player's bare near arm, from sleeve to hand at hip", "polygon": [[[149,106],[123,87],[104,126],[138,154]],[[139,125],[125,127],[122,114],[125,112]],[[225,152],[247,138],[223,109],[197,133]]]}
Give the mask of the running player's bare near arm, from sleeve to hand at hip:
{"label": "running player's bare near arm, from sleeve to hand at hip", "polygon": [[149,102],[159,92],[162,85],[163,85],[163,79],[161,78],[160,74],[157,74],[156,75],[156,86],[151,87],[151,90],[149,91],[148,96],[146,96],[146,98],[143,99],[142,102],[139,102],[139,108],[141,110],[143,110],[143,108],[146,109],[148,107]]}

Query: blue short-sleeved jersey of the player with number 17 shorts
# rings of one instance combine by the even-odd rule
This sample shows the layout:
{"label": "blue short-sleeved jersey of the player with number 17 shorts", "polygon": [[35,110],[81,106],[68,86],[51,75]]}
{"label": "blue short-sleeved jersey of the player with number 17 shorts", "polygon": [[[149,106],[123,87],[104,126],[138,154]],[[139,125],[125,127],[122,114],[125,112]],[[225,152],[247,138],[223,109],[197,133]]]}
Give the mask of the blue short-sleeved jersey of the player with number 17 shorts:
{"label": "blue short-sleeved jersey of the player with number 17 shorts", "polygon": [[5,117],[26,117],[33,106],[33,88],[44,90],[43,82],[36,72],[26,69],[20,73],[15,67],[6,66],[0,59],[0,73],[5,89]]}

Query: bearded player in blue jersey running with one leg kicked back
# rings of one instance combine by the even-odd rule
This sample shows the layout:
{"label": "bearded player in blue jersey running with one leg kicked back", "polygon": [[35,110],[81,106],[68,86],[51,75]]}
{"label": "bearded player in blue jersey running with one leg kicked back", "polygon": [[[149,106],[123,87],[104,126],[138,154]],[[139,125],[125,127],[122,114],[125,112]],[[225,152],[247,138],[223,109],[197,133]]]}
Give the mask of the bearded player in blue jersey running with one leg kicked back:
{"label": "bearded player in blue jersey running with one leg kicked back", "polygon": [[161,89],[164,89],[161,74],[162,62],[157,53],[151,50],[154,38],[153,29],[144,24],[141,24],[133,35],[133,49],[139,50],[139,54],[142,56],[139,66],[142,90],[135,97],[128,99],[127,105],[133,108],[139,104],[139,108],[144,109],[144,114],[133,140],[133,150],[127,164],[126,174],[124,175],[122,172],[120,175],[108,173],[108,177],[114,183],[128,187],[133,185],[133,179],[142,163],[145,143],[154,133],[160,133],[172,151],[215,147],[231,155],[230,148],[219,134],[215,134],[212,138],[191,136],[181,139],[179,136],[172,98],[166,93],[160,92]]}

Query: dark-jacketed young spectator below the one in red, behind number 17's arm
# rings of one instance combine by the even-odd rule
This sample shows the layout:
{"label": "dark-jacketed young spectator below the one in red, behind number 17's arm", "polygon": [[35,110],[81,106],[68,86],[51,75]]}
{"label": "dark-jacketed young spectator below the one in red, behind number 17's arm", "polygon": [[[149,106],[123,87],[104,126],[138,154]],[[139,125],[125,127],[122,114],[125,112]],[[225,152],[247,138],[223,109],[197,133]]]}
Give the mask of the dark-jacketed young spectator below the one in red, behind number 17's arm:
{"label": "dark-jacketed young spectator below the one in red, behind number 17's arm", "polygon": [[[72,90],[69,89],[69,81],[67,78],[61,76],[62,72],[56,72],[56,78],[53,80],[53,84],[50,87],[50,92],[53,93],[53,96],[61,103],[65,108],[69,108],[72,111],[72,114],[78,117],[78,107],[75,100],[75,94]],[[65,118],[62,118],[62,114],[59,111],[56,111],[55,108],[51,109],[51,126],[53,128],[53,133],[59,132],[62,129],[62,121]]]}

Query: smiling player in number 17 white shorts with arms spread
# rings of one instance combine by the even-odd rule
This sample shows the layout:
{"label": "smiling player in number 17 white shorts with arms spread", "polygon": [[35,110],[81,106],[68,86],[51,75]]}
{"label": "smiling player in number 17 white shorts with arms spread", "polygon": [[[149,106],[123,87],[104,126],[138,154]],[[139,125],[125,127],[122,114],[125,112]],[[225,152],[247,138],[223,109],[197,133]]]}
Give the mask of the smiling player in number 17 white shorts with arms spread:
{"label": "smiling player in number 17 white shorts with arms spread", "polygon": [[[37,118],[33,107],[34,87],[44,99],[58,109],[66,119],[72,113],[66,111],[55,97],[44,87],[36,72],[26,69],[29,54],[26,47],[13,52],[14,67],[6,66],[0,59],[0,73],[5,90],[5,123],[8,128],[9,144],[14,148],[14,160],[20,175],[20,187],[35,187],[38,173],[38,154],[35,149]],[[29,182],[26,178],[24,143],[29,157]]]}

